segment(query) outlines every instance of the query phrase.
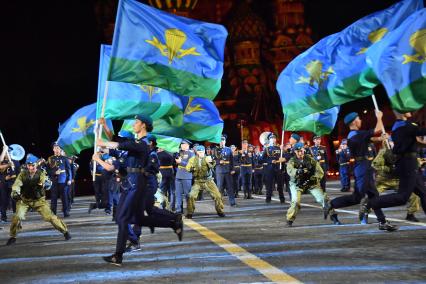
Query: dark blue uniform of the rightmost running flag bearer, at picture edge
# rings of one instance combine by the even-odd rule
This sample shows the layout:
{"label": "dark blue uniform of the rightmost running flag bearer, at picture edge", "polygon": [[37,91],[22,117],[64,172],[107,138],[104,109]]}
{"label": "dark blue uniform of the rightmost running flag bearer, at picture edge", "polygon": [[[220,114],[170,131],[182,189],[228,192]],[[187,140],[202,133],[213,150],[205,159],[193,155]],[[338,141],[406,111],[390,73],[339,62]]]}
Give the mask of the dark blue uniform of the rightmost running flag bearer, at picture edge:
{"label": "dark blue uniform of the rightmost running flag bearer, at picture edge", "polygon": [[411,193],[420,197],[423,211],[426,213],[426,189],[418,170],[417,136],[426,135],[426,128],[406,120],[396,120],[392,127],[392,152],[396,155],[395,171],[399,177],[397,193],[386,194],[370,199],[368,208],[387,208],[407,203]]}

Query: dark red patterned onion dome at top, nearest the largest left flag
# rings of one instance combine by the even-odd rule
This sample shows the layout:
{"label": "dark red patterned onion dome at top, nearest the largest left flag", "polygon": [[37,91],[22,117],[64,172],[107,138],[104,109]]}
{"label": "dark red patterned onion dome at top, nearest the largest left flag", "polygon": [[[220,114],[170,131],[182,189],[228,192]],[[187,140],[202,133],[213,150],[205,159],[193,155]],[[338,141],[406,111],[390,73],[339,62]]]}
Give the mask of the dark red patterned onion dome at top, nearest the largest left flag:
{"label": "dark red patterned onion dome at top, nearest the largest left flag", "polygon": [[246,1],[236,7],[227,27],[232,42],[260,41],[266,35],[265,23]]}

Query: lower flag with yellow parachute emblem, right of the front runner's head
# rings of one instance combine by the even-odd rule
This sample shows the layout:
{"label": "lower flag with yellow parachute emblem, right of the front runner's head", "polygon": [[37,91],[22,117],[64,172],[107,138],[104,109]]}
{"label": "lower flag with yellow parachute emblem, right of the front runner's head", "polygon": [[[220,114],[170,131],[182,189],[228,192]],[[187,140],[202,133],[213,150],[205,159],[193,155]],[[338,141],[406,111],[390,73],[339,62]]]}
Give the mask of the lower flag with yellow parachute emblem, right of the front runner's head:
{"label": "lower flag with yellow parachute emblem, right of the front runner's head", "polygon": [[[175,95],[175,108],[165,116],[153,120],[154,135],[165,135],[195,141],[219,143],[223,131],[223,120],[215,104],[203,98]],[[180,109],[177,110],[177,106]],[[127,120],[127,129],[133,120]]]}

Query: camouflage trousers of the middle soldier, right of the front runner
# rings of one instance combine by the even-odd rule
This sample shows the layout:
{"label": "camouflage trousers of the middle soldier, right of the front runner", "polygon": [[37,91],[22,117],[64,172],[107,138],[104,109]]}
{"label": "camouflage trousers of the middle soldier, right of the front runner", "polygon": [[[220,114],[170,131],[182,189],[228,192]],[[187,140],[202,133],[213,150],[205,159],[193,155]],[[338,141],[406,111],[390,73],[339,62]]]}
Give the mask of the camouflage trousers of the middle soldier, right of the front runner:
{"label": "camouflage trousers of the middle soldier, right of the front runner", "polygon": [[216,184],[213,180],[195,180],[191,187],[188,199],[187,214],[192,214],[195,211],[195,200],[198,198],[200,190],[206,190],[213,198],[217,213],[223,213],[223,200]]}

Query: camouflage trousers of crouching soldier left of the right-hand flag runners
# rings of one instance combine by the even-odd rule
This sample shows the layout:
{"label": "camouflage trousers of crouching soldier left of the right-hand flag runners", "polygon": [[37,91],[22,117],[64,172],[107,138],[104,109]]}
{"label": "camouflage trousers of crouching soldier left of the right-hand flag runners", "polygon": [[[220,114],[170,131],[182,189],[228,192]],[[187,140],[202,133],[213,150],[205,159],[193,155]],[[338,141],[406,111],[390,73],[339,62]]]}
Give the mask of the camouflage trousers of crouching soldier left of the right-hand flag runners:
{"label": "camouflage trousers of crouching soldier left of the right-hand flag runners", "polygon": [[[315,201],[322,207],[324,207],[325,203],[329,200],[327,194],[318,185],[307,189],[306,191],[308,191],[315,198]],[[302,194],[305,192],[305,190],[297,187],[294,182],[290,181],[290,192],[291,202],[290,208],[287,210],[287,221],[294,221],[296,219],[297,213],[300,211],[300,202],[302,199]],[[330,211],[330,215],[334,214],[336,213],[334,212],[334,209],[332,209]]]}

